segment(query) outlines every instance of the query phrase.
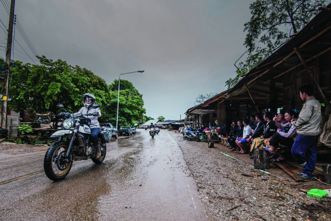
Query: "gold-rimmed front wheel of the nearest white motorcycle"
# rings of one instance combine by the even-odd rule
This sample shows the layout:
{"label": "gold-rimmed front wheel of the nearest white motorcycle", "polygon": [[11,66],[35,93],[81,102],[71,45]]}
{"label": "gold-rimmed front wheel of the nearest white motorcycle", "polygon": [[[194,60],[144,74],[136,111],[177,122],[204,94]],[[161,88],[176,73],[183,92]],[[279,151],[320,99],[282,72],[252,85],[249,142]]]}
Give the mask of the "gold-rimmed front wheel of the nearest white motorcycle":
{"label": "gold-rimmed front wheel of the nearest white motorcycle", "polygon": [[66,158],[68,142],[60,141],[50,146],[44,158],[44,171],[46,176],[53,181],[64,179],[72,166]]}

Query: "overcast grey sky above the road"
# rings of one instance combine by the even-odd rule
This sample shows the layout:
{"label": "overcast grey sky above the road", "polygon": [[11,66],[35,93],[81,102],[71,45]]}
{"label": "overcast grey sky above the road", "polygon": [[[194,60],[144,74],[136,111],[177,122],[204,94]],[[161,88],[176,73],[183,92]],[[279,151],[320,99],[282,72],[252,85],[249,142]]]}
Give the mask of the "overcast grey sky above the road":
{"label": "overcast grey sky above the road", "polygon": [[[16,0],[15,15],[39,56],[86,67],[108,84],[145,70],[121,79],[143,94],[146,115],[179,119],[199,94],[226,90],[225,81],[236,75],[252,2]],[[0,19],[8,27],[2,4]],[[0,46],[6,38],[0,29]],[[15,38],[39,64],[18,31]],[[33,64],[16,42],[13,52],[12,59]]]}

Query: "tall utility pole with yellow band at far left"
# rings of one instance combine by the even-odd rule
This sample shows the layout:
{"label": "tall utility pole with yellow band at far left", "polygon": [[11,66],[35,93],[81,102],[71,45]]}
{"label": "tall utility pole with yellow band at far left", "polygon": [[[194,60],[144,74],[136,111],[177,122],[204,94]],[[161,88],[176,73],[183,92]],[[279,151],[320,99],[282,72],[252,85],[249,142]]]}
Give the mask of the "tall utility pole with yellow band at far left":
{"label": "tall utility pole with yellow band at far left", "polygon": [[3,91],[2,91],[1,128],[3,128],[3,129],[7,129],[7,97],[8,97],[8,80],[9,80],[9,72],[10,72],[10,56],[12,53],[14,7],[15,7],[15,0],[12,0],[11,4],[10,4],[7,51],[6,51],[7,70],[6,70],[6,75],[5,75],[4,81],[3,81]]}

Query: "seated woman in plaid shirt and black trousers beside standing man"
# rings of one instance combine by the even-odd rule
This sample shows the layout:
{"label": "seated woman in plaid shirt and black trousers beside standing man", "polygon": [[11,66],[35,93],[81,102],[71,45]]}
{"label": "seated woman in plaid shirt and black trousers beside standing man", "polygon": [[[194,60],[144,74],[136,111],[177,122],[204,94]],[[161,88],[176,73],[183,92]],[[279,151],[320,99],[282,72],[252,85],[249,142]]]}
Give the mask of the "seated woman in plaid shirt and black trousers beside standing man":
{"label": "seated woman in plaid shirt and black trousers beside standing man", "polygon": [[297,117],[297,112],[294,110],[286,111],[285,119],[287,123],[281,124],[277,117],[274,117],[273,120],[275,121],[276,126],[279,129],[289,128],[288,132],[278,131],[274,133],[269,141],[268,147],[263,147],[265,150],[269,151],[272,155],[270,158],[277,157],[273,159],[274,162],[281,162],[285,160],[285,157],[279,152],[276,152],[278,145],[284,145],[289,148],[292,148],[295,138],[297,137],[297,128],[291,124],[291,120]]}

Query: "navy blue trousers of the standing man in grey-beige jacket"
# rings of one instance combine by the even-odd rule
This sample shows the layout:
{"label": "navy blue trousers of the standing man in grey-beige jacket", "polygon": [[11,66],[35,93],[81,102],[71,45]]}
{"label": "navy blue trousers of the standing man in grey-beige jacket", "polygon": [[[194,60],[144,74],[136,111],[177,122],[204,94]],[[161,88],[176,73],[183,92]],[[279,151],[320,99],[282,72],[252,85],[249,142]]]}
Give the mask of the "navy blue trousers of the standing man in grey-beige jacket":
{"label": "navy blue trousers of the standing man in grey-beige jacket", "polygon": [[302,172],[310,177],[312,177],[312,172],[316,165],[318,136],[319,135],[304,136],[298,134],[291,150],[293,158],[299,164],[307,162]]}

